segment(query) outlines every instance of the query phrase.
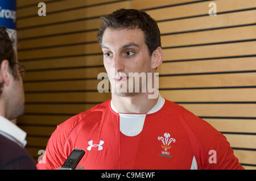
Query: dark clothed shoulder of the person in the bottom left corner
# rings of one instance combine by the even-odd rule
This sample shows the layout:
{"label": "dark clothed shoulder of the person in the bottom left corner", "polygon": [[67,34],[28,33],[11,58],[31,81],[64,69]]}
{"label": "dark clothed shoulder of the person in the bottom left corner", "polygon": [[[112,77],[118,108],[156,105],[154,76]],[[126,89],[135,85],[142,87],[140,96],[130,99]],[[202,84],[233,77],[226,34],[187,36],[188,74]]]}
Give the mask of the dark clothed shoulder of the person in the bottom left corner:
{"label": "dark clothed shoulder of the person in the bottom left corner", "polygon": [[0,134],[0,169],[35,170],[31,156],[15,142]]}

